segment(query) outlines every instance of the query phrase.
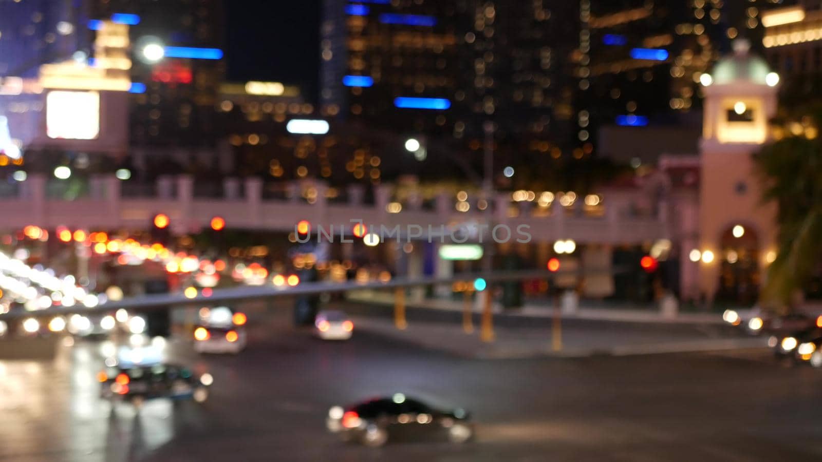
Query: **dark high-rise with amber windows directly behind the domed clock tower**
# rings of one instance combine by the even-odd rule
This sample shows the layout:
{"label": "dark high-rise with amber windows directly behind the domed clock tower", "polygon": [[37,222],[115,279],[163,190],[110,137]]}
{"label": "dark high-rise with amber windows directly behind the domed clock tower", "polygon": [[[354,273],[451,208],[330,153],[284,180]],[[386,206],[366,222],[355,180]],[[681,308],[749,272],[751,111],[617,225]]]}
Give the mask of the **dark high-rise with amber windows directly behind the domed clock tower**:
{"label": "dark high-rise with amber windows directly behind the domed clock tower", "polygon": [[[778,3],[790,2],[780,0]],[[577,114],[580,141],[606,125],[674,124],[698,133],[700,76],[733,39],[760,50],[774,0],[582,0]]]}

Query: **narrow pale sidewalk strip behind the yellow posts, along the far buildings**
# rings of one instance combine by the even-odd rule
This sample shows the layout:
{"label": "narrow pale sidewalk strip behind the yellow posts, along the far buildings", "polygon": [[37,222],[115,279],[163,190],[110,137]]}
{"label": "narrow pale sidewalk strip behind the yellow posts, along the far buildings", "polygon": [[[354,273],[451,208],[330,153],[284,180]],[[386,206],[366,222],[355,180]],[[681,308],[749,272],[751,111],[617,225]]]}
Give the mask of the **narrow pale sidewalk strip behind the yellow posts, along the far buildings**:
{"label": "narrow pale sidewalk strip behind the yellow posts, along the far buildings", "polygon": [[[348,300],[358,303],[373,303],[379,305],[394,305],[394,297],[390,293],[376,291],[355,291],[349,293]],[[476,302],[476,300],[475,300]],[[473,303],[473,312],[478,313],[478,303]],[[427,308],[444,312],[462,312],[464,304],[456,300],[446,298],[424,298],[420,301],[412,301],[406,298],[406,306],[414,308]],[[494,303],[492,311],[497,316],[514,317],[537,317],[551,318],[554,316],[554,307],[548,305],[538,305],[526,303],[518,310],[503,312],[502,308]],[[724,326],[722,315],[718,313],[695,313],[680,312],[676,317],[665,317],[658,309],[625,309],[625,308],[600,308],[585,307],[580,303],[580,307],[571,313],[562,312],[562,319],[580,319],[587,321],[613,321],[613,322],[636,322],[636,323],[661,323],[661,324],[691,324],[707,326]]]}

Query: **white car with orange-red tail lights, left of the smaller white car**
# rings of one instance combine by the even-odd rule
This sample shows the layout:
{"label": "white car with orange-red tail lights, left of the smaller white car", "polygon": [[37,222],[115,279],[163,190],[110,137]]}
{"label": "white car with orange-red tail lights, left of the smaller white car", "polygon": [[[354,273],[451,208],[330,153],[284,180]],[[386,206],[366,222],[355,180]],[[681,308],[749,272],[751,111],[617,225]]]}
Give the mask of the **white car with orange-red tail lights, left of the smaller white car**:
{"label": "white car with orange-red tail lights, left of the smaller white car", "polygon": [[247,318],[229,307],[201,308],[200,326],[194,329],[194,350],[197,353],[240,353],[246,348]]}

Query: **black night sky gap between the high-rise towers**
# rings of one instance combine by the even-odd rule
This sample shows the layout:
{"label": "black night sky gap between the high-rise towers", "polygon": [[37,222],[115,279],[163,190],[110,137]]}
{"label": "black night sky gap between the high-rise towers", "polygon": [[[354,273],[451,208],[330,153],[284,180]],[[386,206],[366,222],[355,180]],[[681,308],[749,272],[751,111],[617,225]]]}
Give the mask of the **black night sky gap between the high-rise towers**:
{"label": "black night sky gap between the high-rise towers", "polygon": [[316,99],[321,0],[224,0],[229,81],[281,81]]}

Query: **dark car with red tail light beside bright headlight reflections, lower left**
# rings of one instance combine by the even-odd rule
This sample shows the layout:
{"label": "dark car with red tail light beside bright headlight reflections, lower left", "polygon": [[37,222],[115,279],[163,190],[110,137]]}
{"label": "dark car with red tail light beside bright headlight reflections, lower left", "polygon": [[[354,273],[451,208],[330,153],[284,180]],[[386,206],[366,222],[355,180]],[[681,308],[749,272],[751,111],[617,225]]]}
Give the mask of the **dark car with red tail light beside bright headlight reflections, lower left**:
{"label": "dark car with red tail light beside bright headlight reflections, lower left", "polygon": [[104,399],[130,400],[136,405],[154,398],[202,403],[208,399],[214,381],[209,373],[197,375],[187,367],[164,363],[108,367],[98,373],[97,379]]}

